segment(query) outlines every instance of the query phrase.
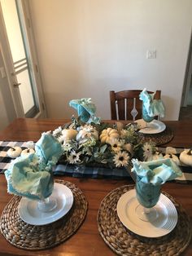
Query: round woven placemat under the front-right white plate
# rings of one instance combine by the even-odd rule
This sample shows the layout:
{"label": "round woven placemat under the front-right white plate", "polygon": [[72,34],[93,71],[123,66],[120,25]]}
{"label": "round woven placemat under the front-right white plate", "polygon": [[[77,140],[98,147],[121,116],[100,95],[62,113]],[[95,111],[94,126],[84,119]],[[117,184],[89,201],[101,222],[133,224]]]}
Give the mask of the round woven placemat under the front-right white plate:
{"label": "round woven placemat under the front-right white plate", "polygon": [[125,192],[133,189],[126,185],[111,191],[103,199],[98,210],[98,231],[106,244],[119,255],[179,255],[190,244],[190,217],[172,196],[163,192],[177,208],[178,222],[172,232],[159,238],[147,238],[130,232],[120,222],[116,213],[116,205]]}

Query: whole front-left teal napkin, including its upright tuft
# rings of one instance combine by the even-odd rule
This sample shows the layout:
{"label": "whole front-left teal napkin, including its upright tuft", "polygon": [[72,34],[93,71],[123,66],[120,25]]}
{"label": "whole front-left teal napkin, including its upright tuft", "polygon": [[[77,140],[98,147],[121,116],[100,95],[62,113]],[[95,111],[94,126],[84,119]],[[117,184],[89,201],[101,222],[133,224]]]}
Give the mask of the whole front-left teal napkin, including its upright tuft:
{"label": "whole front-left teal napkin, including its upright tuft", "polygon": [[52,168],[63,153],[61,144],[52,135],[44,133],[36,144],[36,151],[16,158],[5,171],[9,193],[39,200],[52,193]]}

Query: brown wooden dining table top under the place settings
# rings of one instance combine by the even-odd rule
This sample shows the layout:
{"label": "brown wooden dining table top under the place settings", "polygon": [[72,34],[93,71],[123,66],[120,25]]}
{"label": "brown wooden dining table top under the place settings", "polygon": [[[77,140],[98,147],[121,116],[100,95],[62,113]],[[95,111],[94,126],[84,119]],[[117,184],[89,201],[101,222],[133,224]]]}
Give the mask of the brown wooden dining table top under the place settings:
{"label": "brown wooden dining table top under the place settings", "polygon": [[[3,141],[37,141],[41,133],[48,130],[55,130],[58,126],[70,120],[64,119],[31,119],[17,118],[6,129],[0,131],[0,140]],[[112,122],[112,121],[111,121]],[[192,147],[192,121],[164,121],[164,123],[173,131],[172,141],[164,144],[177,148]],[[128,179],[87,179],[55,176],[55,179],[65,179],[76,184],[85,194],[89,202],[89,209],[85,222],[77,232],[64,241],[62,244],[51,249],[30,251],[18,249],[11,245],[0,235],[0,255],[52,255],[52,256],[86,256],[99,255],[110,256],[115,253],[106,245],[102,236],[98,232],[97,214],[101,201],[109,192],[120,186],[133,184]],[[192,186],[189,183],[165,183],[164,192],[171,195],[185,209],[186,213],[192,218]],[[0,214],[12,195],[7,193],[7,180],[4,174],[0,174]],[[192,255],[192,243],[185,249],[181,255]]]}

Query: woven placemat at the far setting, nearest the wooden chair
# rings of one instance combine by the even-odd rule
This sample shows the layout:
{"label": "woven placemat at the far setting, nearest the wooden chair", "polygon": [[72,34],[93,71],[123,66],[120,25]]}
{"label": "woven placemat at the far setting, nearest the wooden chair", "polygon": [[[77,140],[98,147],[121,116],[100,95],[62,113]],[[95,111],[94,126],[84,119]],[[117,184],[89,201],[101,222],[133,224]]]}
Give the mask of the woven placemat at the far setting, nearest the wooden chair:
{"label": "woven placemat at the far setting, nearest the wooden chair", "polygon": [[159,146],[171,141],[173,136],[174,135],[172,130],[168,126],[166,126],[166,129],[160,132],[159,134],[153,134],[153,135],[142,134],[142,142],[151,140],[155,142],[156,146]]}

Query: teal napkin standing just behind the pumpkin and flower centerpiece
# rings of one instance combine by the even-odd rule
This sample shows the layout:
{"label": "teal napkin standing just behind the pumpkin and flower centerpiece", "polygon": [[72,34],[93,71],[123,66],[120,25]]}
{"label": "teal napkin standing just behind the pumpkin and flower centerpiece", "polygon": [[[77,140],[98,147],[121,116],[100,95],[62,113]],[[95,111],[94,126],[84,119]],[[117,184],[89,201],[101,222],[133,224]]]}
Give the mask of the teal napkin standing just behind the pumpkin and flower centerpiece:
{"label": "teal napkin standing just behind the pumpkin and flower centerpiece", "polygon": [[85,123],[100,122],[100,118],[95,117],[96,107],[90,98],[72,99],[69,106],[76,109],[81,121]]}

